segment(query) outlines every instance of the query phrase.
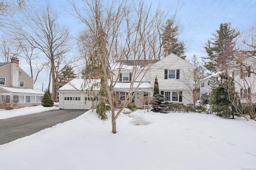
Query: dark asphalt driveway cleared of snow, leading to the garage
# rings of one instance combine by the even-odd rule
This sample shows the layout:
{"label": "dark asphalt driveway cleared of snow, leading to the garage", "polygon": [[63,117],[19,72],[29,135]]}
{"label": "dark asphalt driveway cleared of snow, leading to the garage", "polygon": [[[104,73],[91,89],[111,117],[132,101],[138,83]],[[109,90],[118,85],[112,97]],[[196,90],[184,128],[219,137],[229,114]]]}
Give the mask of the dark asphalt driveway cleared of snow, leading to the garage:
{"label": "dark asphalt driveway cleared of snow, leading to the garage", "polygon": [[0,120],[0,145],[74,119],[86,111],[58,109]]}

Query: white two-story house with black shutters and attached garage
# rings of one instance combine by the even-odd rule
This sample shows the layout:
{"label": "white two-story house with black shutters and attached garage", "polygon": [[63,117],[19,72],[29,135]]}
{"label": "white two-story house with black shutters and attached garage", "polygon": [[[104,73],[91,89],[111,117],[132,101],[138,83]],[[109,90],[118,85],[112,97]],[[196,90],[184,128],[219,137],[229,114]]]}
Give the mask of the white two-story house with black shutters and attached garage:
{"label": "white two-story house with black shutters and attached garage", "polygon": [[[147,66],[141,74],[133,70],[134,62],[137,63],[138,70]],[[161,60],[140,60],[140,61],[120,61],[113,64],[111,70],[114,73],[113,80],[118,80],[114,86],[114,91],[119,99],[119,104],[124,102],[128,95],[131,81],[133,84],[134,98],[130,101],[134,102],[137,107],[143,107],[144,104],[149,106],[149,102],[145,102],[145,97],[153,96],[155,77],[158,78],[159,91],[166,101],[191,104],[193,87],[193,69],[194,65],[184,59],[170,54]],[[72,82],[74,81],[74,82]],[[72,80],[58,90],[59,107],[61,109],[89,109],[91,102],[88,101],[86,94],[81,92],[84,80]],[[80,81],[80,82],[78,82]],[[75,83],[76,86],[72,85]],[[136,89],[136,90],[135,90]],[[97,90],[97,89],[96,89]],[[73,101],[73,98],[80,97],[80,102]],[[72,98],[72,102],[70,102]],[[73,103],[70,105],[70,103]]]}

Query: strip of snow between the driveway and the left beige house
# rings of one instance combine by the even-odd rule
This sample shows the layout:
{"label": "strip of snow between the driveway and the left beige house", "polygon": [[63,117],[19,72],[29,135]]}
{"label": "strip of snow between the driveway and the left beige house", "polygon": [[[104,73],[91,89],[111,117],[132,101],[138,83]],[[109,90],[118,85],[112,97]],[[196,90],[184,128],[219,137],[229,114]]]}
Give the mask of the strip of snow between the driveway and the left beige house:
{"label": "strip of snow between the driveway and the left beige house", "polygon": [[54,110],[54,109],[59,109],[59,107],[55,107],[55,106],[44,107],[40,105],[40,106],[33,106],[33,107],[23,107],[20,109],[13,109],[13,110],[3,110],[3,111],[0,111],[0,120],[8,119],[11,117],[22,116],[22,115],[29,115],[33,113],[39,113],[43,111]]}

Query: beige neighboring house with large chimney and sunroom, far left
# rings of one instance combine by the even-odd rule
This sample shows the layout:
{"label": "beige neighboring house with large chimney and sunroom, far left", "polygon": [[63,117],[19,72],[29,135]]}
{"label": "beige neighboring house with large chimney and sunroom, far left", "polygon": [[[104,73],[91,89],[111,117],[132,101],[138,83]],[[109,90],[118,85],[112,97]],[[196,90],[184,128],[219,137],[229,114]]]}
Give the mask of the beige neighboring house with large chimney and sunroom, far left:
{"label": "beige neighboring house with large chimney and sunroom, far left", "polygon": [[13,57],[11,63],[0,63],[0,95],[0,104],[4,100],[19,108],[41,105],[44,92],[34,89],[34,80]]}

